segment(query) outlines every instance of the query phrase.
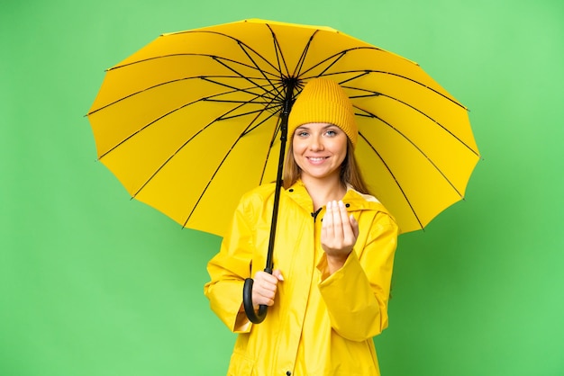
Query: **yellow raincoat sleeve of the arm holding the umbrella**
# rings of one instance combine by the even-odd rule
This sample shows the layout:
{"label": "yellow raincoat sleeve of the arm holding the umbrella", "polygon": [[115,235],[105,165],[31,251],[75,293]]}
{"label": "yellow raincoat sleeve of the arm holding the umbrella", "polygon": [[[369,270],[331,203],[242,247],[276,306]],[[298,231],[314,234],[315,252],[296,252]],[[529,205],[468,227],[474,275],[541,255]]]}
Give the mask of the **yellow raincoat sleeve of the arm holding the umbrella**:
{"label": "yellow raincoat sleeve of the arm holding the umbrella", "polygon": [[210,282],[204,286],[211,309],[235,333],[249,332],[251,325],[241,312],[243,284],[250,277],[253,255],[249,216],[249,205],[241,200],[219,253],[207,264]]}

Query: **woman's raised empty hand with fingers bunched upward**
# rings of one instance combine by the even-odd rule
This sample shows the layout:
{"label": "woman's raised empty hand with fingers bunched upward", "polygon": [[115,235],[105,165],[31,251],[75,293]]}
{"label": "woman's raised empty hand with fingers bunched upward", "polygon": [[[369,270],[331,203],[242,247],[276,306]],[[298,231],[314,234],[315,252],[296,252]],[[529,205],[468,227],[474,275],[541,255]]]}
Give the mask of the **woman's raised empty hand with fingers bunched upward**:
{"label": "woman's raised empty hand with fingers bunched upward", "polygon": [[330,273],[341,268],[359,236],[359,222],[342,201],[327,202],[321,230],[321,245],[327,255]]}

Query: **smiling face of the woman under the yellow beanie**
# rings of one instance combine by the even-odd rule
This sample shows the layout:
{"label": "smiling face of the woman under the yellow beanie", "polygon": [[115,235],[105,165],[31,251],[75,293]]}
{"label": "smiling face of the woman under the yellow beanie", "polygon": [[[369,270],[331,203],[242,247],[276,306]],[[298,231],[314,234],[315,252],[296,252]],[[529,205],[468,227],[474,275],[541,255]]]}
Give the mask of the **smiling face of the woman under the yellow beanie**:
{"label": "smiling face of the woman under the yellow beanie", "polygon": [[292,148],[302,180],[339,178],[347,157],[347,135],[333,124],[307,123],[296,128]]}

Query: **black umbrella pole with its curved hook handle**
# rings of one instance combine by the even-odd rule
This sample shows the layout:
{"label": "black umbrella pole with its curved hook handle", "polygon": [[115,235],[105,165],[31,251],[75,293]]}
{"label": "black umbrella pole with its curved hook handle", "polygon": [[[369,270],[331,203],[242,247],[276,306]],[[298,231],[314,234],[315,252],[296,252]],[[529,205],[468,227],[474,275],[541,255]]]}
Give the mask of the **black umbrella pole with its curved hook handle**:
{"label": "black umbrella pole with its curved hook handle", "polygon": [[[290,110],[292,108],[292,97],[294,95],[294,87],[296,86],[296,79],[290,78],[286,82],[287,92],[284,99],[284,108],[282,110],[282,116],[280,120],[280,156],[278,157],[278,169],[277,169],[277,179],[276,187],[274,191],[274,207],[272,209],[272,221],[270,224],[270,238],[268,239],[268,253],[267,253],[267,264],[264,269],[265,272],[272,274],[272,255],[274,253],[274,239],[276,237],[276,227],[277,227],[277,217],[278,217],[278,205],[280,203],[280,190],[282,188],[282,174],[284,170],[284,157],[286,154],[286,141],[288,132],[288,117],[290,115]],[[243,308],[245,309],[245,314],[249,318],[250,322],[253,324],[260,324],[267,317],[268,306],[260,305],[259,312],[257,313],[252,305],[252,278],[245,279],[243,285]]]}

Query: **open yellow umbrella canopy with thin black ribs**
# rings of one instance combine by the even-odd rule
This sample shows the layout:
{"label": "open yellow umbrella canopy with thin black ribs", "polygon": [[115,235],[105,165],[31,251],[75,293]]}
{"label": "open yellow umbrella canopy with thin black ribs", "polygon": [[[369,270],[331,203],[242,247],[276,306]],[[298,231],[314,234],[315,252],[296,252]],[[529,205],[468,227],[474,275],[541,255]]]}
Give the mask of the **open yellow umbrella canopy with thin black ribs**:
{"label": "open yellow umbrella canopy with thin black ribs", "polygon": [[355,109],[355,154],[402,232],[464,197],[467,109],[414,62],[327,27],[246,20],[161,35],[107,70],[87,116],[132,197],[223,236],[243,192],[277,180],[281,113],[317,76]]}

